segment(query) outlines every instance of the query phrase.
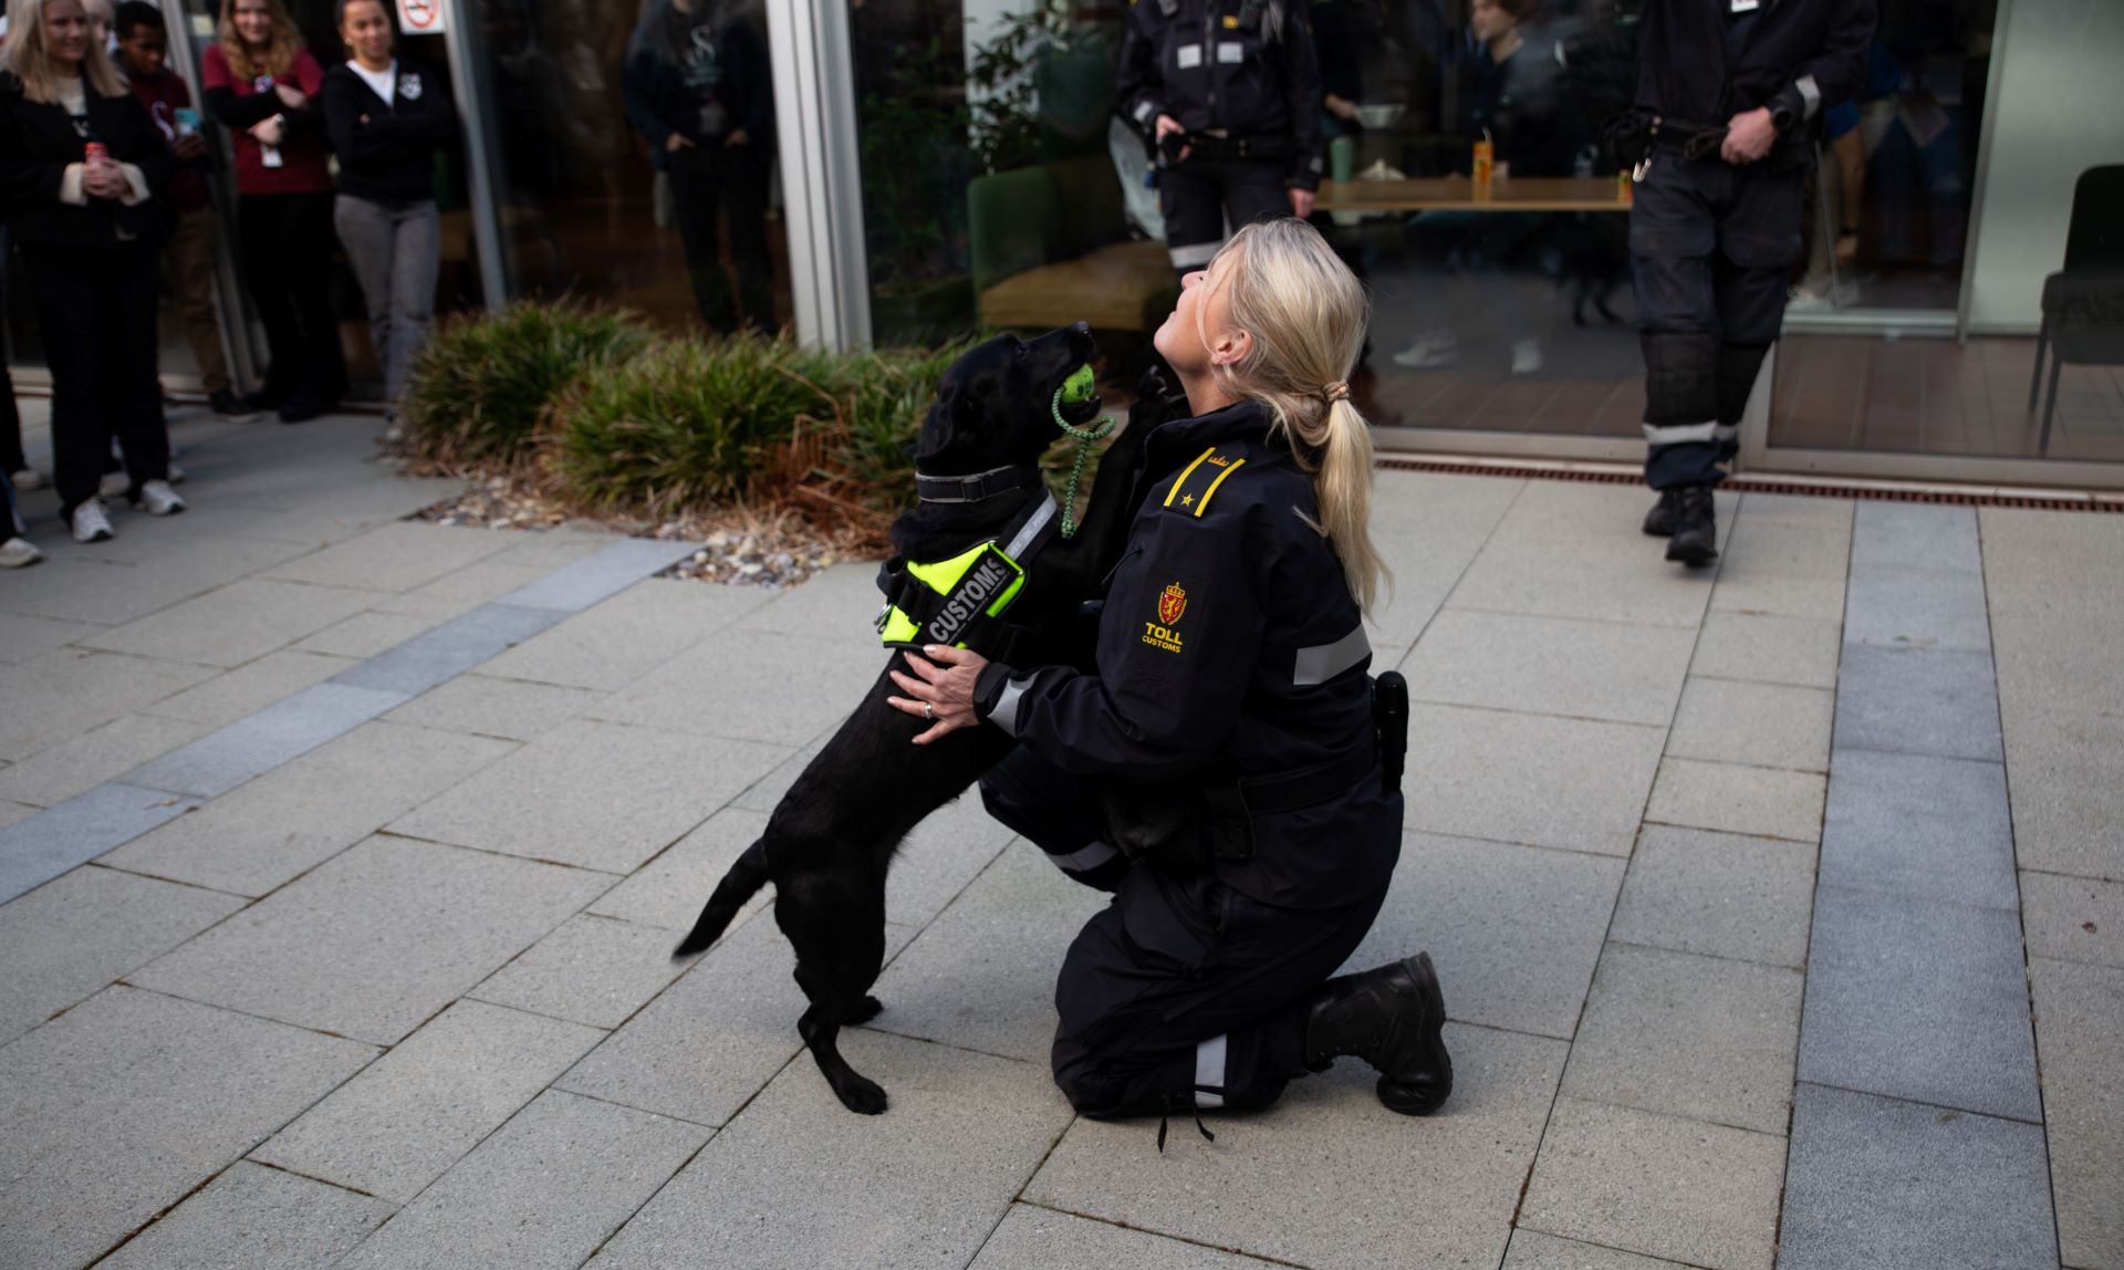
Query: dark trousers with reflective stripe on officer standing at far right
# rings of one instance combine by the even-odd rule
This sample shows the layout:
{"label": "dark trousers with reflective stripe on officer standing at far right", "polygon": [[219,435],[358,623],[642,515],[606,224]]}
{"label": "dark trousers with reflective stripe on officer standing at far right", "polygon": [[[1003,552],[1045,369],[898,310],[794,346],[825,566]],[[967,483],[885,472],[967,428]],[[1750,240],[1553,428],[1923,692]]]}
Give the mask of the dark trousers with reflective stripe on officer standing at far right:
{"label": "dark trousers with reflective stripe on officer standing at far right", "polygon": [[1805,172],[1659,151],[1635,187],[1629,253],[1644,342],[1644,476],[1716,484],[1784,319]]}

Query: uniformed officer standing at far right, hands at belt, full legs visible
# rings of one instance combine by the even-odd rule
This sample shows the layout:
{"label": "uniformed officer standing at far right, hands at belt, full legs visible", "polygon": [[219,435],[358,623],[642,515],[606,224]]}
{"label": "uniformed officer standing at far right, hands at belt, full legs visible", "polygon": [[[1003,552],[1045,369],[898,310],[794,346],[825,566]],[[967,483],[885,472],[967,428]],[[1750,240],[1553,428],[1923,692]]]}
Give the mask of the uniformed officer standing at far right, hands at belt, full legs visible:
{"label": "uniformed officer standing at far right, hands at belt, full legs visible", "polygon": [[1858,91],[1873,0],[1646,0],[1638,102],[1618,157],[1644,340],[1644,531],[1718,559],[1712,486],[1784,319],[1810,132]]}

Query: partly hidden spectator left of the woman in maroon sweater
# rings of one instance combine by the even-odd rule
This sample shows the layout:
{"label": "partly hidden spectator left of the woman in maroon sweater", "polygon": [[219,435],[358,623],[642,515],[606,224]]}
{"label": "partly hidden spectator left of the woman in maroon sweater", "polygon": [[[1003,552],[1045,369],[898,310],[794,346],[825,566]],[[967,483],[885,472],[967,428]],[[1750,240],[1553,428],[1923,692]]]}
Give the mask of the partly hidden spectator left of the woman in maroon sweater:
{"label": "partly hidden spectator left of the woman in maroon sweater", "polygon": [[185,323],[185,340],[200,361],[206,404],[223,418],[253,418],[229,384],[229,363],[221,353],[221,325],[215,321],[215,204],[206,195],[206,174],[212,159],[200,132],[200,113],[191,108],[185,79],[168,70],[170,34],[161,11],[147,0],[125,0],[117,13],[119,68],[134,96],[147,106],[155,127],[176,155],[170,176],[170,198],[164,200],[164,255],[176,291],[176,312]]}

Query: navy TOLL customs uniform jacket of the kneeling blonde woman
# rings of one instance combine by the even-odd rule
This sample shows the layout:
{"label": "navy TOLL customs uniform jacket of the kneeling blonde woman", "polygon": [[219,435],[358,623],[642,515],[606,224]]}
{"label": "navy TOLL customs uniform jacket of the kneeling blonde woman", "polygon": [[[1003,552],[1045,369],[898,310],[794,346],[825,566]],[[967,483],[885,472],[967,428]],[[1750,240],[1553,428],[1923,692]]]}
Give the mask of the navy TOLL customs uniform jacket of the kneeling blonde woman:
{"label": "navy TOLL customs uniform jacket of the kneeling blonde woman", "polygon": [[[1138,786],[1223,784],[1372,741],[1372,650],[1342,565],[1308,520],[1313,478],[1245,401],[1149,437],[1145,491],[1107,588],[1098,673],[983,673],[977,709],[1056,767]],[[1376,896],[1402,841],[1376,779],[1255,818],[1219,879],[1262,903]]]}

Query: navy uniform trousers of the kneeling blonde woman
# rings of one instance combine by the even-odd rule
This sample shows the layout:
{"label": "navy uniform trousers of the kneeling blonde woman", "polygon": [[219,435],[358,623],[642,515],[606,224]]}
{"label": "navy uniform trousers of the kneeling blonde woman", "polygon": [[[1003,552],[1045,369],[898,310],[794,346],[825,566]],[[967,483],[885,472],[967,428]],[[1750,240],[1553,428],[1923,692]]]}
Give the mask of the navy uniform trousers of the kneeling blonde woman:
{"label": "navy uniform trousers of the kneeling blonde woman", "polygon": [[1213,873],[1130,866],[1100,841],[1090,788],[1017,748],[981,779],[990,816],[1073,879],[1113,892],[1056,983],[1056,1085],[1083,1115],[1268,1106],[1306,1075],[1308,998],[1387,898],[1334,909],[1257,903]]}

